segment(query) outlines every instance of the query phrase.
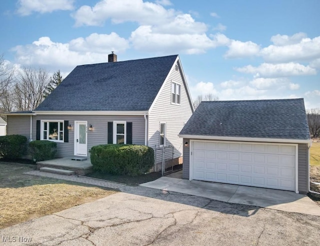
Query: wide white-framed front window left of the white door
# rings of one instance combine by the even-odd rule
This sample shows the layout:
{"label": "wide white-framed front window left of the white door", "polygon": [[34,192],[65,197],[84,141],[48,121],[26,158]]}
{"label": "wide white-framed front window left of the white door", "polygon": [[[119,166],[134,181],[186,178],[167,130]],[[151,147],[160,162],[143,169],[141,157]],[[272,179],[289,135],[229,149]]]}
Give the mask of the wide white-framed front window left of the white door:
{"label": "wide white-framed front window left of the white door", "polygon": [[63,142],[63,120],[41,120],[41,140]]}

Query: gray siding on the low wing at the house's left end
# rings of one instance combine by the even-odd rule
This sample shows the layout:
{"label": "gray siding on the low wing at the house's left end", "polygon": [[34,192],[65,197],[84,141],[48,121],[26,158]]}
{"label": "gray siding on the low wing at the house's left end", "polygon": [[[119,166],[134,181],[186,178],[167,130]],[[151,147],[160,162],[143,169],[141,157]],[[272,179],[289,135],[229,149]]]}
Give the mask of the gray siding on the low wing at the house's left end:
{"label": "gray siding on the low wing at the house's left end", "polygon": [[7,115],[6,123],[8,135],[18,134],[30,139],[30,115]]}

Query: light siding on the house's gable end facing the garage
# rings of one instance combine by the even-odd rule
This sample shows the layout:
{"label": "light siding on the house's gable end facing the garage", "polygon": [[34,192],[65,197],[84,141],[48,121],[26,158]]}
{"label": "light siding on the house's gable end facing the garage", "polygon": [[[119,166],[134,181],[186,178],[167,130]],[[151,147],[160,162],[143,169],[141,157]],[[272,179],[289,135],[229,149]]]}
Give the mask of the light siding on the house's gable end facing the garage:
{"label": "light siding on the house's gable end facing the garage", "polygon": [[[183,152],[182,138],[178,137],[184,123],[192,114],[190,100],[186,92],[185,82],[182,79],[180,69],[171,70],[159,96],[148,115],[148,146],[159,147],[160,122],[166,123],[166,146],[173,146],[173,158],[180,157]],[[171,104],[171,81],[181,85],[181,104]],[[161,151],[158,150],[157,162],[161,161]],[[172,150],[166,152],[166,159],[172,158]]]}

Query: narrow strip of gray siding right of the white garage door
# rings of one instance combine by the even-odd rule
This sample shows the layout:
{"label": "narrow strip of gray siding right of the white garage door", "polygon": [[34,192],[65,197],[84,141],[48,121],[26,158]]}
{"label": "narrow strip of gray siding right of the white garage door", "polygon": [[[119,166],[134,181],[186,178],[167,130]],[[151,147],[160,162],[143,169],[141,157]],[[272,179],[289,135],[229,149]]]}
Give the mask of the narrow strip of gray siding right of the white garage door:
{"label": "narrow strip of gray siding right of the white garage door", "polygon": [[307,193],[309,190],[308,177],[308,146],[305,143],[298,144],[298,190],[299,193]]}

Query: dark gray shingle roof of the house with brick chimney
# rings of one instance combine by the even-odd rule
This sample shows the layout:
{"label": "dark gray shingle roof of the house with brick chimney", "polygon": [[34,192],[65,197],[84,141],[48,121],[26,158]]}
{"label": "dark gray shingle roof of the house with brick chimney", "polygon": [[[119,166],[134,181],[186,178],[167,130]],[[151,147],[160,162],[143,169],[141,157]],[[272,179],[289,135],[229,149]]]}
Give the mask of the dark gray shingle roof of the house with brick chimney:
{"label": "dark gray shingle roof of the house with brick chimney", "polygon": [[35,111],[148,110],[176,57],[78,65]]}

